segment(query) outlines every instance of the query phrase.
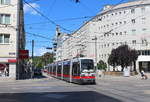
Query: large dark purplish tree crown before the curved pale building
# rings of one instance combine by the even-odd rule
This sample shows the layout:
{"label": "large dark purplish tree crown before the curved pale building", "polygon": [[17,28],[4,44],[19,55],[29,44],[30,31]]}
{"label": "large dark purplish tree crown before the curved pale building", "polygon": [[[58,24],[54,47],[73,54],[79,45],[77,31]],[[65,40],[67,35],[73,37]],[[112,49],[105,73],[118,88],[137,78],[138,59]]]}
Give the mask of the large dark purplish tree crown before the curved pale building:
{"label": "large dark purplish tree crown before the curved pale building", "polygon": [[122,45],[112,50],[108,58],[108,63],[114,68],[120,65],[123,71],[125,67],[131,66],[137,58],[138,54],[136,50],[130,49],[128,45]]}

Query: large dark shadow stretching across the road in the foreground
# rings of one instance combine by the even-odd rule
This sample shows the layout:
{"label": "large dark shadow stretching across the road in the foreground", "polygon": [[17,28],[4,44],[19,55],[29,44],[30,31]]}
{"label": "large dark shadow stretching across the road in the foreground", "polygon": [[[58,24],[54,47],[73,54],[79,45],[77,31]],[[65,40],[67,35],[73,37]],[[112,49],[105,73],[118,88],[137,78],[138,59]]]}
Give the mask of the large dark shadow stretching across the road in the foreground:
{"label": "large dark shadow stretching across the road in the foreground", "polygon": [[93,91],[0,93],[0,102],[122,102]]}

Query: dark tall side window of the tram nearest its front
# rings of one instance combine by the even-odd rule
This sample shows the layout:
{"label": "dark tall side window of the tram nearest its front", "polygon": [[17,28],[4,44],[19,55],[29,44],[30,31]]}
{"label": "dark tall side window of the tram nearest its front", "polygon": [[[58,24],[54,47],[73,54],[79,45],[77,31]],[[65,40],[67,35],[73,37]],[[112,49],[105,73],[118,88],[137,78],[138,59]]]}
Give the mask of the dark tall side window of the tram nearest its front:
{"label": "dark tall side window of the tram nearest its front", "polygon": [[73,65],[72,65],[72,75],[73,76],[80,75],[80,64],[79,64],[79,62],[73,62]]}

